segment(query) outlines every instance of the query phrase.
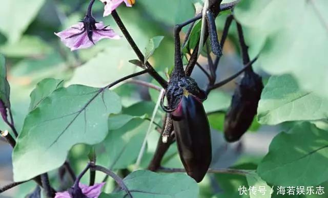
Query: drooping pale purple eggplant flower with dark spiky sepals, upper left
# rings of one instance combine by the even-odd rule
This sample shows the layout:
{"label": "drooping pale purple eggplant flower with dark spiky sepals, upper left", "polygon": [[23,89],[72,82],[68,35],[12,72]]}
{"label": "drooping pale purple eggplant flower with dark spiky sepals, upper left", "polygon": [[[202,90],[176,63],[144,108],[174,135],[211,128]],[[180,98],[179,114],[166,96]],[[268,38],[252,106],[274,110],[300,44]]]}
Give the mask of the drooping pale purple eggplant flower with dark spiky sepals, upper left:
{"label": "drooping pale purple eggplant flower with dark spiky sepals, upper left", "polygon": [[84,20],[71,28],[55,33],[64,44],[73,50],[89,48],[95,42],[103,39],[120,39],[113,29],[104,26],[103,22],[96,22],[91,16],[86,16]]}

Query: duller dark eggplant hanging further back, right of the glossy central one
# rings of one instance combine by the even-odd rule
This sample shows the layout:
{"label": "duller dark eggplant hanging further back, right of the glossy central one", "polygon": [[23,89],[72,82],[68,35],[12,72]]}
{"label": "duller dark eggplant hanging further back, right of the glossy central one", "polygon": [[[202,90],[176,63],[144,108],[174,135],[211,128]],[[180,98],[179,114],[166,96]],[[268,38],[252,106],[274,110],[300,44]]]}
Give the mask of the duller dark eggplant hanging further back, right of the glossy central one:
{"label": "duller dark eggplant hanging further back, right of the glossy central one", "polygon": [[251,126],[262,90],[262,78],[253,71],[245,73],[224,119],[224,138],[228,142],[238,141]]}

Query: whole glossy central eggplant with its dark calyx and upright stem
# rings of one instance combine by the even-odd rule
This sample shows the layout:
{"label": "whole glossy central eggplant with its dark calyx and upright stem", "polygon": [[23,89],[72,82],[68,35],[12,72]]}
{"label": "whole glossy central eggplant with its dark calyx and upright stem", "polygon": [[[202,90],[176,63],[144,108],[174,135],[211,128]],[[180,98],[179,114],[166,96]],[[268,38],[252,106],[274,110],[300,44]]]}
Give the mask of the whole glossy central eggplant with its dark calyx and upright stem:
{"label": "whole glossy central eggplant with its dark calyx and upright stem", "polygon": [[161,106],[171,114],[179,156],[187,174],[200,182],[212,160],[210,125],[202,105],[206,94],[183,70],[179,31],[180,27],[176,27],[175,67],[166,89],[168,106],[163,105],[163,98]]}

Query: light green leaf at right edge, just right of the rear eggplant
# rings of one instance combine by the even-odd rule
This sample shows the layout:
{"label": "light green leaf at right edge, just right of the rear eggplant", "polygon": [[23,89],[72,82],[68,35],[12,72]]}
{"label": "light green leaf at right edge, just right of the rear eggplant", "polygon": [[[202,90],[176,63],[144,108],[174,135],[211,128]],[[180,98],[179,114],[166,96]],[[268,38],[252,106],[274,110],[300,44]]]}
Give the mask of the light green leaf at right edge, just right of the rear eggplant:
{"label": "light green leaf at right edge, just right of the rear eggplant", "polygon": [[257,113],[261,124],[319,120],[328,116],[328,100],[300,90],[291,75],[273,76],[263,89]]}

